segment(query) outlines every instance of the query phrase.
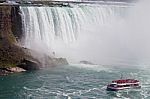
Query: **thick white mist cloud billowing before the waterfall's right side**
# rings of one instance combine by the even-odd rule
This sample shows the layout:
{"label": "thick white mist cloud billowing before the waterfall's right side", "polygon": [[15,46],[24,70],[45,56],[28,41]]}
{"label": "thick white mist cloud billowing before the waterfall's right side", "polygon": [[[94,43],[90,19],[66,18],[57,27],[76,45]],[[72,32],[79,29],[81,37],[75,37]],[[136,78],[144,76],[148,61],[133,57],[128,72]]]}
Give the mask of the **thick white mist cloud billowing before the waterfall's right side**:
{"label": "thick white mist cloud billowing before the waterfall's right side", "polygon": [[[76,42],[57,46],[70,61],[88,60],[98,64],[126,62],[140,64],[150,58],[149,1],[127,8],[125,17],[110,17],[106,24],[84,24]],[[124,13],[124,12],[123,12]],[[61,45],[61,44],[56,44]]]}

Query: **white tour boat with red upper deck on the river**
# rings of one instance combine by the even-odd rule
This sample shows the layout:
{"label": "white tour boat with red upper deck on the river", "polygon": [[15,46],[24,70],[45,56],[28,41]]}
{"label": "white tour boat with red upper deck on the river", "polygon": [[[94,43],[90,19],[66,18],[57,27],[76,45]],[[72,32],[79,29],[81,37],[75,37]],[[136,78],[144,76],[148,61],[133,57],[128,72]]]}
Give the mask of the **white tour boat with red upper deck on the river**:
{"label": "white tour boat with red upper deck on the river", "polygon": [[119,91],[130,88],[141,88],[141,86],[139,85],[139,80],[135,79],[113,80],[110,84],[107,85],[108,91]]}

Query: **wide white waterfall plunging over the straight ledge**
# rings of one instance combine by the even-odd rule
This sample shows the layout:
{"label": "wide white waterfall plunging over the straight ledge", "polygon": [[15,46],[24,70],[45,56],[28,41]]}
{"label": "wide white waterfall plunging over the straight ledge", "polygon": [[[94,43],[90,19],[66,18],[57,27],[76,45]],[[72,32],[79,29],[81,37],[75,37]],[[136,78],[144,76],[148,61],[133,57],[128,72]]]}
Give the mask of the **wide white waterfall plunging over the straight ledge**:
{"label": "wide white waterfall plunging over the straight ledge", "polygon": [[97,53],[107,56],[110,47],[116,54],[116,44],[112,43],[118,44],[118,35],[109,32],[124,21],[128,7],[95,4],[20,9],[25,32],[22,46],[79,61],[94,60]]}

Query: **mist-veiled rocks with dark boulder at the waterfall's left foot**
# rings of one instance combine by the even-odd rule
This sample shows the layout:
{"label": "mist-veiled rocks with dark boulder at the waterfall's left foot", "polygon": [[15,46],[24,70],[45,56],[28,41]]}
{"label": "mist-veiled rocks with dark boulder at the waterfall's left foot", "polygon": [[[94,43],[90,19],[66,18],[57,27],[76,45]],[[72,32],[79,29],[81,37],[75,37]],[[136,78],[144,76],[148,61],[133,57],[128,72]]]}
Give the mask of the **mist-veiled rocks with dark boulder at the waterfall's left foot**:
{"label": "mist-veiled rocks with dark boulder at the waterfall's left foot", "polygon": [[20,64],[19,67],[26,70],[37,70],[43,67],[54,67],[68,64],[65,58],[50,57],[47,54],[27,48],[23,48],[23,50],[26,53],[26,57],[21,62],[22,64]]}

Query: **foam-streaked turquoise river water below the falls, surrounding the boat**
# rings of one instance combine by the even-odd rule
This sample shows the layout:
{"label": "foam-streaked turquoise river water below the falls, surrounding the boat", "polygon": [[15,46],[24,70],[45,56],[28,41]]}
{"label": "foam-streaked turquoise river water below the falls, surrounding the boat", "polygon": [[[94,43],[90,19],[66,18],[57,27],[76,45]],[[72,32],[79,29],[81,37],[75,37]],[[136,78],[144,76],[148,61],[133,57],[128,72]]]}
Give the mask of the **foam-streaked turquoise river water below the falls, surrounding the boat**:
{"label": "foam-streaked turquoise river water below the falls, surrounding the boat", "polygon": [[[114,79],[138,79],[141,89],[106,91]],[[0,77],[0,99],[150,99],[150,72],[143,67],[74,64]]]}

